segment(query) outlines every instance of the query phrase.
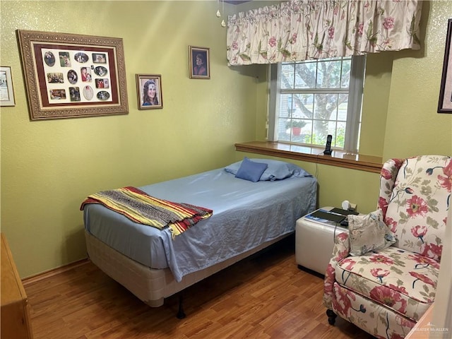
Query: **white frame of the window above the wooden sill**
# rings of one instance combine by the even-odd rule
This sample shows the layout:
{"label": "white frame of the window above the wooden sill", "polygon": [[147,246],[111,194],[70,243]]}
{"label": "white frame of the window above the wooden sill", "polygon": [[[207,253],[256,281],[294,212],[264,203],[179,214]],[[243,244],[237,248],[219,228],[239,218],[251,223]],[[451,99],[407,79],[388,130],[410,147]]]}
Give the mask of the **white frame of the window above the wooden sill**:
{"label": "white frame of the window above the wooden sill", "polygon": [[[291,64],[295,64],[291,63]],[[362,97],[364,91],[364,76],[366,67],[365,55],[352,56],[352,63],[350,66],[350,83],[347,90],[348,103],[347,103],[347,120],[345,122],[345,142],[344,148],[337,148],[350,153],[357,153],[359,150],[359,133],[361,125],[361,110],[362,110]],[[278,107],[280,107],[280,95],[281,94],[297,94],[306,93],[306,89],[290,89],[282,90],[280,88],[280,71],[281,64],[271,64],[268,68],[268,141],[275,141],[281,143],[290,143],[294,145],[308,145],[313,147],[319,147],[315,144],[307,143],[294,143],[288,141],[278,141],[278,128],[276,121],[278,119]],[[325,93],[323,89],[313,89],[316,93]],[[336,91],[335,91],[336,92]]]}

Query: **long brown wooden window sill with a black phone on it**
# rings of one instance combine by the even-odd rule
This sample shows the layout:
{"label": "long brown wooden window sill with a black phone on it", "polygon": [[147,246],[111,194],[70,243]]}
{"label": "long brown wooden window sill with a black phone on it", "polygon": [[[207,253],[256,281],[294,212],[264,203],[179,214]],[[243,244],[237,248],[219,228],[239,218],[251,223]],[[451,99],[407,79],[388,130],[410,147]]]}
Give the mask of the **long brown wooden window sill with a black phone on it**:
{"label": "long brown wooden window sill with a black phone on it", "polygon": [[323,148],[314,148],[270,141],[251,141],[236,143],[235,149],[241,152],[285,157],[287,159],[316,162],[322,165],[358,169],[359,171],[380,173],[382,158],[333,150],[331,155],[323,155]]}

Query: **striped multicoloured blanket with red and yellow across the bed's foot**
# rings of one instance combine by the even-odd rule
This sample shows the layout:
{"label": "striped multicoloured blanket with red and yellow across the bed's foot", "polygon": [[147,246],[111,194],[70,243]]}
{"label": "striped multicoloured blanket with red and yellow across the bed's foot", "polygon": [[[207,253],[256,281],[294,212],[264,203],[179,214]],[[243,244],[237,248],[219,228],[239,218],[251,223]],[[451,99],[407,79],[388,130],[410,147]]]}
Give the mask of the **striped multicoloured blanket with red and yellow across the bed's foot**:
{"label": "striped multicoloured blanket with red and yellow across the bed's foot", "polygon": [[83,201],[80,209],[88,203],[100,203],[134,222],[160,230],[168,226],[173,238],[213,214],[208,208],[154,198],[131,186],[92,194]]}

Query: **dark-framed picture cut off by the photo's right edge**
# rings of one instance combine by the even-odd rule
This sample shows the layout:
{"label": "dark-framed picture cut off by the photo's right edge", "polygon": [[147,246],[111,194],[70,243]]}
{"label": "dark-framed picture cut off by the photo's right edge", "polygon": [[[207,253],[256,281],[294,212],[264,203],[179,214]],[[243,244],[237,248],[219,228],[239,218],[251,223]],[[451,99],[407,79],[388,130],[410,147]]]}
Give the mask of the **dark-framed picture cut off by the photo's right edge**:
{"label": "dark-framed picture cut off by the photo's right edge", "polygon": [[439,88],[438,113],[452,113],[452,19],[448,20],[446,49],[444,51],[443,76]]}

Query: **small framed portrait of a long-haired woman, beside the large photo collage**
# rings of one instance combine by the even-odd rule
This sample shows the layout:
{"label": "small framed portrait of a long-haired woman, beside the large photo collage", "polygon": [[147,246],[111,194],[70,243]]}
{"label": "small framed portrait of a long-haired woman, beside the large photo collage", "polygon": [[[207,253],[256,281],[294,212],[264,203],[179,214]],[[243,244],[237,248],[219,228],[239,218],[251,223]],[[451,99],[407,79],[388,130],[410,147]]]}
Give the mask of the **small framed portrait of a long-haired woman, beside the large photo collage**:
{"label": "small framed portrait of a long-haired woman, beside the large photo collage", "polygon": [[137,74],[136,93],[138,109],[163,108],[162,76],[160,74]]}

